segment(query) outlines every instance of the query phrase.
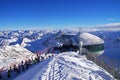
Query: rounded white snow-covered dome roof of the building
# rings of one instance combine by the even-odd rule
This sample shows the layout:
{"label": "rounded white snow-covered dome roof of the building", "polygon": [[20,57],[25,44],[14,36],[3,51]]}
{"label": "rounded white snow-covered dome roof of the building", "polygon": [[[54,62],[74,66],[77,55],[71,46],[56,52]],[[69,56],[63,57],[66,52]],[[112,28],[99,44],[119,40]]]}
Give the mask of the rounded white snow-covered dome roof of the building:
{"label": "rounded white snow-covered dome roof of the building", "polygon": [[94,45],[104,43],[104,41],[99,37],[85,32],[80,34],[80,39],[83,41],[83,45]]}

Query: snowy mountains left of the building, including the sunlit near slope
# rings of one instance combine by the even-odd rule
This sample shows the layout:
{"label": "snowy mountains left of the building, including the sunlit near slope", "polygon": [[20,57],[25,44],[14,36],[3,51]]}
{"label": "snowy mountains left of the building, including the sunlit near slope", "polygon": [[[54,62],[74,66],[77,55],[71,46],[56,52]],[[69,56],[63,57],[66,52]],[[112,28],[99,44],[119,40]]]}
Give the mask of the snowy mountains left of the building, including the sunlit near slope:
{"label": "snowy mountains left of the building, including the sunlit near slope", "polygon": [[32,52],[43,50],[43,42],[52,34],[49,30],[0,31],[0,69],[34,58],[36,55]]}

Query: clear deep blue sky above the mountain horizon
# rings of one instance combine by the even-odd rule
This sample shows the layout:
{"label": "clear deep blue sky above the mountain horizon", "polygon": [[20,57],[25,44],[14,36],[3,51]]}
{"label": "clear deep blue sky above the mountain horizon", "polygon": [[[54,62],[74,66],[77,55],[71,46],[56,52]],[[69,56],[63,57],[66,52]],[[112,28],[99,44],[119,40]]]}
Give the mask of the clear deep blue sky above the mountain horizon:
{"label": "clear deep blue sky above the mountain horizon", "polygon": [[0,0],[0,29],[89,27],[120,22],[120,0]]}

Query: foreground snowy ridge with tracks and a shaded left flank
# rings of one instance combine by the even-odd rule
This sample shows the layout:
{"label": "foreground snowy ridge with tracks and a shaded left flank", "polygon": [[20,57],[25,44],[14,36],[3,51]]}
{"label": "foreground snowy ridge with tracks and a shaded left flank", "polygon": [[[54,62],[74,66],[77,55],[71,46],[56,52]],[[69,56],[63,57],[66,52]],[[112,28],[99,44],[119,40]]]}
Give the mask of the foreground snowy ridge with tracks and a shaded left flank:
{"label": "foreground snowy ridge with tracks and a shaded left flank", "polygon": [[114,80],[104,69],[75,52],[64,52],[49,60],[39,63],[15,80]]}

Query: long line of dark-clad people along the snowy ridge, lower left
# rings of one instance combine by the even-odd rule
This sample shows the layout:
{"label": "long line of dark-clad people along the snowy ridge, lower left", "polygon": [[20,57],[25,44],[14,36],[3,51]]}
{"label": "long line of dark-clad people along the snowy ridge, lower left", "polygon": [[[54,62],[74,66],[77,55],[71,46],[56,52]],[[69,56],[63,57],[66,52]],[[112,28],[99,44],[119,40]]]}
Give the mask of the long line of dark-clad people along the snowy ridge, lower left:
{"label": "long line of dark-clad people along the snowy ridge, lower left", "polygon": [[0,80],[6,80],[6,78],[7,79],[14,78],[19,73],[27,70],[30,66],[32,66],[32,65],[34,65],[38,62],[41,62],[44,59],[49,58],[49,57],[51,57],[51,56],[50,55],[47,56],[47,54],[45,54],[44,56],[41,56],[41,55],[37,54],[34,59],[27,59],[25,61],[21,61],[21,63],[18,64],[18,65],[13,65],[12,67],[10,66],[10,68],[6,71],[6,74],[4,73],[2,75],[0,73]]}

